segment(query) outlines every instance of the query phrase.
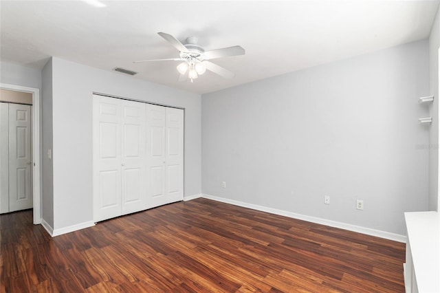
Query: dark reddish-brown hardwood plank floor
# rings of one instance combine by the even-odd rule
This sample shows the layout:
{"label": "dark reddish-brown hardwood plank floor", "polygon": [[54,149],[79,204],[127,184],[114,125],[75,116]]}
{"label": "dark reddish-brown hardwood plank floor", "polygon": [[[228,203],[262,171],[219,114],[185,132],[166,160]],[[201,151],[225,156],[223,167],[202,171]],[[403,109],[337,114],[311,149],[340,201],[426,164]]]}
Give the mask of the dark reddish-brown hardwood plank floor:
{"label": "dark reddish-brown hardwood plank floor", "polygon": [[404,292],[404,243],[208,199],[54,238],[0,221],[1,292]]}

